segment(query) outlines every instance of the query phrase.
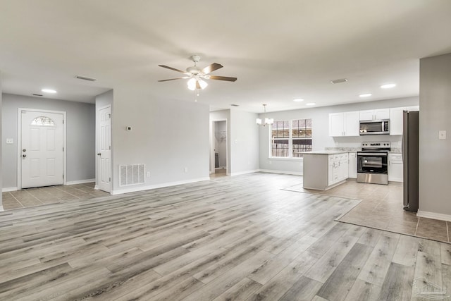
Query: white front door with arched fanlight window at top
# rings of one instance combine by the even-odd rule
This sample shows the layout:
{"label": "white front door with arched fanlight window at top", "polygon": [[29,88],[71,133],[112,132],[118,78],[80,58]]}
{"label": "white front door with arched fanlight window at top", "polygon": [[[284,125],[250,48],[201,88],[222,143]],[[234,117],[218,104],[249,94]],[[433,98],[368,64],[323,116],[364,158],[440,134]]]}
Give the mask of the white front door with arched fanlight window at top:
{"label": "white front door with arched fanlight window at top", "polygon": [[63,185],[63,113],[22,111],[21,188]]}

